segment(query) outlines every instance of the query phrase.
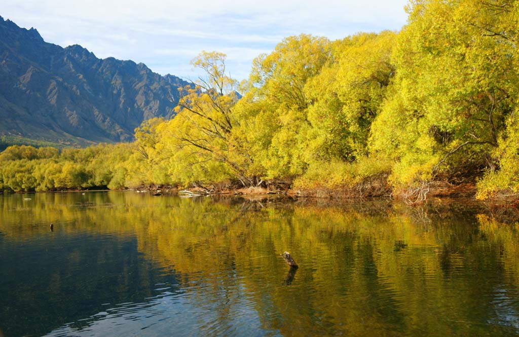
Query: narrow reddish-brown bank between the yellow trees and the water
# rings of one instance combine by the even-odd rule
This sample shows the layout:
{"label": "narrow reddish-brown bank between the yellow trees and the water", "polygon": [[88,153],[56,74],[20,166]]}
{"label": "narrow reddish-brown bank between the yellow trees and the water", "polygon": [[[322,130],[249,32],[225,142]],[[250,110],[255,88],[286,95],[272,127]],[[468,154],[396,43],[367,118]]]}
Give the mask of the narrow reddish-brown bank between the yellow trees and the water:
{"label": "narrow reddish-brown bank between the yellow trees and the water", "polygon": [[[110,190],[106,186],[92,186],[88,188],[52,188],[52,193],[74,193],[74,192],[101,192],[101,191],[128,191],[134,193],[146,193],[154,196],[180,195],[183,197],[197,196],[221,196],[221,197],[244,197],[246,199],[265,199],[272,197],[286,197],[297,200],[316,200],[325,204],[344,204],[354,200],[387,199],[400,200],[407,205],[420,206],[430,200],[474,200],[484,203],[492,209],[514,209],[519,210],[519,195],[513,191],[500,191],[494,197],[486,200],[476,200],[476,185],[474,183],[450,184],[448,182],[430,182],[420,188],[409,188],[403,191],[394,191],[383,180],[370,183],[358,184],[356,186],[343,186],[327,188],[316,186],[313,188],[293,188],[287,181],[266,181],[260,186],[243,187],[230,181],[197,185],[190,187],[173,185],[142,185],[133,188],[119,188]],[[4,193],[41,193],[37,191],[0,191]]]}

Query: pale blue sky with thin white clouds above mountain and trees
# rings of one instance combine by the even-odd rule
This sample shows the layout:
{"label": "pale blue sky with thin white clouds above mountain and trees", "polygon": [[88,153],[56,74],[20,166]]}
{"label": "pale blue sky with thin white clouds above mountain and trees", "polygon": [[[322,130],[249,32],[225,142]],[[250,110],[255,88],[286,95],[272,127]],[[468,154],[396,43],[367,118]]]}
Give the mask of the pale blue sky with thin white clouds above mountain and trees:
{"label": "pale blue sky with thin white clouds above mountain and trees", "polygon": [[231,77],[284,37],[332,40],[357,32],[400,30],[407,0],[2,0],[0,16],[34,27],[45,41],[79,44],[98,58],[143,62],[161,75],[195,79],[189,61],[202,50],[227,55]]}

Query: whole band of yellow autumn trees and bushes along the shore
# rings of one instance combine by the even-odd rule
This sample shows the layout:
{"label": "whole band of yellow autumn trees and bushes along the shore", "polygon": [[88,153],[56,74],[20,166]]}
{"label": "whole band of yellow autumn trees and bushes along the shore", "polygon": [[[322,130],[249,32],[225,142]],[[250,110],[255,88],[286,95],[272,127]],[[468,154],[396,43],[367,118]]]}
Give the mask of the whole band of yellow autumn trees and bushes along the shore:
{"label": "whole band of yellow autumn trees and bushes along the shore", "polygon": [[9,147],[0,188],[283,180],[359,195],[382,182],[408,200],[434,182],[475,185],[480,199],[516,193],[519,1],[406,10],[400,32],[287,37],[240,84],[224,54],[202,52],[192,63],[206,76],[181,90],[176,117],[147,120],[133,143]]}

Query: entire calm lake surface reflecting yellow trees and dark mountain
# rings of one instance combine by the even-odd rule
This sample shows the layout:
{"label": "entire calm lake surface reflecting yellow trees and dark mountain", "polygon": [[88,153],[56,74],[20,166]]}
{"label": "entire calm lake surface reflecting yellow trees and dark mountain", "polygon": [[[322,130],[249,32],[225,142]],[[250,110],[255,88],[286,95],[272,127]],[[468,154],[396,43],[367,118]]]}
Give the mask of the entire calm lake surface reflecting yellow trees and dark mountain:
{"label": "entire calm lake surface reflecting yellow trees and dark mountain", "polygon": [[519,334],[519,225],[481,206],[86,192],[0,219],[0,336]]}

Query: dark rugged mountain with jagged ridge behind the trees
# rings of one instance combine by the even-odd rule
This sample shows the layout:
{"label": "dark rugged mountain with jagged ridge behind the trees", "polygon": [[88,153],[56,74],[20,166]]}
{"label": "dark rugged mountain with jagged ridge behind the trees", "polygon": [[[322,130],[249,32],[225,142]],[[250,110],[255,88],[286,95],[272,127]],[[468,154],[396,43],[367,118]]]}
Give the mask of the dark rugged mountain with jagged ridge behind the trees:
{"label": "dark rugged mountain with jagged ridge behind the trees", "polygon": [[0,134],[88,144],[131,141],[145,119],[174,115],[179,86],[143,63],[46,43],[0,17]]}

